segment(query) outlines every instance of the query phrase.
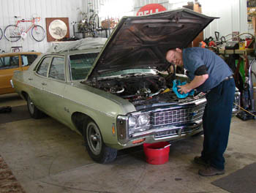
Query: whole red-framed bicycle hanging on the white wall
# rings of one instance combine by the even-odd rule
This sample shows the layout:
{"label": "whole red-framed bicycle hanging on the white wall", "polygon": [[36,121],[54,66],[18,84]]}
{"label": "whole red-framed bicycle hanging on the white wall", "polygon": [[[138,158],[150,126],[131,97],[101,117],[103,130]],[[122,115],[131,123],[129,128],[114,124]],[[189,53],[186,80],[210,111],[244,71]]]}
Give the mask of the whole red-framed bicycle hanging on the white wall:
{"label": "whole red-framed bicycle hanging on the white wall", "polygon": [[[15,16],[15,18],[19,18]],[[41,18],[32,18],[32,20],[18,20],[15,25],[9,25],[4,29],[4,37],[10,42],[17,42],[21,37],[26,38],[26,34],[31,29],[31,36],[37,42],[42,42],[45,39],[45,29],[42,26],[36,25],[36,21],[39,22]],[[29,29],[24,29],[23,26],[20,26],[20,23],[31,22]]]}

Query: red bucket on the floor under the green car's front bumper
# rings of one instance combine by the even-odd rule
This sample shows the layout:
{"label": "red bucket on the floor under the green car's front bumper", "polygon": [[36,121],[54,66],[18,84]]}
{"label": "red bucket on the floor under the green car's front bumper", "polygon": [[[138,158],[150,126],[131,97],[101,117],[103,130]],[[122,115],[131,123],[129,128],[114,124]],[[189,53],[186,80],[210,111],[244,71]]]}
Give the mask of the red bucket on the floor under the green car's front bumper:
{"label": "red bucket on the floor under the green car's front bumper", "polygon": [[169,160],[170,143],[143,143],[148,164],[165,164]]}

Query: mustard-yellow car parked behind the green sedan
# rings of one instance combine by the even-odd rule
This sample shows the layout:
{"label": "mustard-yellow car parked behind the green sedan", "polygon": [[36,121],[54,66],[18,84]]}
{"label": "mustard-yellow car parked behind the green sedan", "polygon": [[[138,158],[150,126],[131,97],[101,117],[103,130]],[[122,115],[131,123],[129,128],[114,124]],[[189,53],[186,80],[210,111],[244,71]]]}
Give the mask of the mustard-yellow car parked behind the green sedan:
{"label": "mustard-yellow car parked behind the green sedan", "polygon": [[13,72],[23,71],[29,68],[30,64],[41,53],[23,52],[23,53],[1,53],[0,54],[0,94],[13,93],[14,88],[10,83]]}

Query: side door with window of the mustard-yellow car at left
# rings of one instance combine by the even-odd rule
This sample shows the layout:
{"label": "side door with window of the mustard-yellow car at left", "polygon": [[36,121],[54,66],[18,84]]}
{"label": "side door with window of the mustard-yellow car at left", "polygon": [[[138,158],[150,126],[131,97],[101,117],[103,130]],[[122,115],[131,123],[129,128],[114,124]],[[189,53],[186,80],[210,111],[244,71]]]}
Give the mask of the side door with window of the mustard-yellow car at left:
{"label": "side door with window of the mustard-yellow car at left", "polygon": [[0,56],[0,94],[14,92],[10,80],[15,70],[21,70],[19,55]]}

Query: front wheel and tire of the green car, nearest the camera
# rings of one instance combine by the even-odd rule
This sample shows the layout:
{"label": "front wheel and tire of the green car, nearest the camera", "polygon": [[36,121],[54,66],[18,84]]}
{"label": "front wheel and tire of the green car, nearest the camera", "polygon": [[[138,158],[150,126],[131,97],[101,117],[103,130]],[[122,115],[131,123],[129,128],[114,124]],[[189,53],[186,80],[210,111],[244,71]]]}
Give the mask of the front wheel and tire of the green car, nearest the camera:
{"label": "front wheel and tire of the green car, nearest the camera", "polygon": [[99,127],[94,121],[89,120],[83,123],[83,137],[89,156],[95,162],[105,164],[116,159],[117,150],[105,145]]}

